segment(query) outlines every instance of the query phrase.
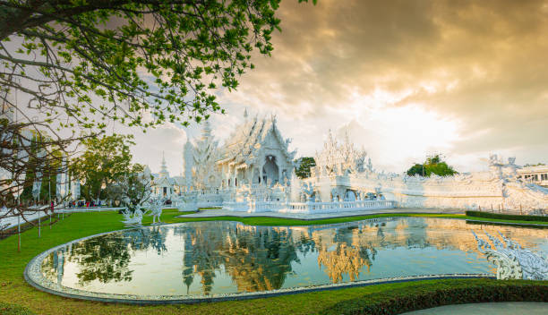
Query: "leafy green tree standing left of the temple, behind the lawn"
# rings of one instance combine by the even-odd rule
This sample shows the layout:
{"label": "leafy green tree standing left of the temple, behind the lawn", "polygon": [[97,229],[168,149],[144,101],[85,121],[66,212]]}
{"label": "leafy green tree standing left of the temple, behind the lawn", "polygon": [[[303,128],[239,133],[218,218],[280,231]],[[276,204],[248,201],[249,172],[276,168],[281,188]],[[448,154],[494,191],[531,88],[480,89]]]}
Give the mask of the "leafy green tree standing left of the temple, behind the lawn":
{"label": "leafy green tree standing left of the temple, behind the lawn", "polygon": [[72,175],[81,183],[86,200],[106,196],[105,189],[131,173],[133,136],[112,135],[84,140],[85,151],[71,163]]}

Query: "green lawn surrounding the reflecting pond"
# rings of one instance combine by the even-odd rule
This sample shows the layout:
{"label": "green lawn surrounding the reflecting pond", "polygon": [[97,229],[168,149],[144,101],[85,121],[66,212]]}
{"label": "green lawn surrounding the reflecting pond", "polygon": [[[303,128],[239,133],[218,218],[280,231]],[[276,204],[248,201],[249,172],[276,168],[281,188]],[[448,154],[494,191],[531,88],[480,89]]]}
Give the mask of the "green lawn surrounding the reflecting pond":
{"label": "green lawn surrounding the reflecting pond", "polygon": [[[196,219],[177,218],[180,212],[164,210],[161,220],[166,223],[187,222]],[[470,218],[464,215],[376,215],[367,217],[345,217],[316,221],[278,219],[270,217],[215,217],[209,220],[233,220],[250,225],[261,226],[303,226],[327,223],[340,223],[371,217],[453,217]],[[214,302],[195,305],[134,306],[116,303],[88,302],[67,299],[54,294],[46,294],[28,285],[23,279],[23,270],[30,259],[42,251],[71,240],[113,230],[123,229],[122,216],[116,212],[75,213],[49,227],[42,227],[42,236],[38,229],[32,228],[21,234],[21,252],[17,251],[17,235],[0,241],[0,313],[5,303],[19,304],[37,314],[309,314],[322,312],[340,313],[352,309],[364,301],[384,301],[392,299],[395,293],[431,292],[447,287],[467,285],[529,285],[525,281],[494,281],[488,279],[436,280],[390,285],[372,285],[366,287],[324,291],[309,294],[284,295],[266,299],[248,301]],[[484,220],[484,218],[481,218]],[[145,217],[143,224],[150,224],[151,217]],[[529,222],[530,223],[530,222]],[[545,223],[544,223],[545,224]],[[538,285],[539,283],[536,282]],[[546,282],[541,286],[548,288]],[[545,290],[548,292],[548,290]],[[547,295],[548,296],[548,295]],[[388,300],[387,300],[388,301]],[[361,307],[361,306],[360,306]],[[13,312],[16,313],[16,312]]]}

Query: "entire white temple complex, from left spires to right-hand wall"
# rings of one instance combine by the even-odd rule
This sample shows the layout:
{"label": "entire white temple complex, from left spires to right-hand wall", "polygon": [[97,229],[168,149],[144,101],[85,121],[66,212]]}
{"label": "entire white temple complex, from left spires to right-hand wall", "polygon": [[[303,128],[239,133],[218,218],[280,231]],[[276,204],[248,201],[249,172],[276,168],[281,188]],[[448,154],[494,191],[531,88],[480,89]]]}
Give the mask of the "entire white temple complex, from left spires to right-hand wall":
{"label": "entire white temple complex, from left spires to right-hand wall", "polygon": [[[548,209],[548,189],[523,182],[514,158],[490,158],[485,172],[431,177],[376,172],[364,149],[331,134],[315,155],[312,176],[295,176],[295,151],[278,130],[277,119],[249,119],[219,145],[206,122],[197,140],[184,144],[184,177],[162,171],[154,178],[158,197],[186,203],[185,209],[222,207],[248,212],[326,213],[364,209],[431,208]],[[184,201],[183,201],[184,200]]]}

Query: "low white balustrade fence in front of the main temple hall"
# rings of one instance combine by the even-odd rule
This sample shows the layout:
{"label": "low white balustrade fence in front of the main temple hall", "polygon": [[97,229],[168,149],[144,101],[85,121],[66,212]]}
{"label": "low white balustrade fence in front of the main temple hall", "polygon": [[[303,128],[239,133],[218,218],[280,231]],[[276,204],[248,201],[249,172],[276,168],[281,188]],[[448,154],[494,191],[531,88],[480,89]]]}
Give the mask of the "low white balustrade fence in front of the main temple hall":
{"label": "low white balustrade fence in front of the main temple hall", "polygon": [[245,212],[333,213],[396,208],[396,201],[355,200],[335,202],[227,201],[223,209]]}

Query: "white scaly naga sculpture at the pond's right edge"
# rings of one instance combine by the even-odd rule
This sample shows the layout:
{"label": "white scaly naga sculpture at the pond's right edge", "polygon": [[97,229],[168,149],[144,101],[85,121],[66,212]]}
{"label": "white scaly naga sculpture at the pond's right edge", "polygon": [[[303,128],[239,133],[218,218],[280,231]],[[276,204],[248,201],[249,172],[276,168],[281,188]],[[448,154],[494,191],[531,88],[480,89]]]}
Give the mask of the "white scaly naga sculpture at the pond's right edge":
{"label": "white scaly naga sculpture at the pond's right edge", "polygon": [[479,238],[474,231],[477,249],[487,260],[497,266],[497,279],[548,280],[548,260],[541,254],[526,250],[518,243],[501,235],[504,243],[491,234],[485,233],[491,244]]}

